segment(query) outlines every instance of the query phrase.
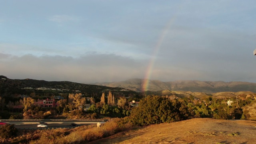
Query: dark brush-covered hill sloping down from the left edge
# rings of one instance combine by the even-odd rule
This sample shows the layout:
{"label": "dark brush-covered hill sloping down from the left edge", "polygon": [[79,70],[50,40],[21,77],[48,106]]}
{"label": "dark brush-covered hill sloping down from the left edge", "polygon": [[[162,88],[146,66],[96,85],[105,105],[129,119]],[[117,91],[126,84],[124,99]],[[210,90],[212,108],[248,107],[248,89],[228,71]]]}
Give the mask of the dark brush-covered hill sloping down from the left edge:
{"label": "dark brush-covered hill sloping down from the left edge", "polygon": [[[38,89],[39,88],[39,89]],[[41,89],[40,89],[41,88]],[[45,88],[45,89],[44,89]],[[10,94],[30,94],[37,93],[71,93],[81,92],[87,96],[101,96],[102,92],[111,91],[115,96],[139,95],[140,93],[127,90],[120,87],[98,86],[92,84],[80,84],[68,81],[45,81],[33,79],[9,79],[6,76],[0,76],[0,96]]]}

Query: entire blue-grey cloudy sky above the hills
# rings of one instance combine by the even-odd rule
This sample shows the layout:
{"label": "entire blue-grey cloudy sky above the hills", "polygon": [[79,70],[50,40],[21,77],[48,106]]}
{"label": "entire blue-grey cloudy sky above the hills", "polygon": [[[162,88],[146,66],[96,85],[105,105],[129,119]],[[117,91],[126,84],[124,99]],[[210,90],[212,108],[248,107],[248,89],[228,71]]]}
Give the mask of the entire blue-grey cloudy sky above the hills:
{"label": "entire blue-grey cloudy sky above the hills", "polygon": [[0,0],[0,75],[256,83],[255,0]]}

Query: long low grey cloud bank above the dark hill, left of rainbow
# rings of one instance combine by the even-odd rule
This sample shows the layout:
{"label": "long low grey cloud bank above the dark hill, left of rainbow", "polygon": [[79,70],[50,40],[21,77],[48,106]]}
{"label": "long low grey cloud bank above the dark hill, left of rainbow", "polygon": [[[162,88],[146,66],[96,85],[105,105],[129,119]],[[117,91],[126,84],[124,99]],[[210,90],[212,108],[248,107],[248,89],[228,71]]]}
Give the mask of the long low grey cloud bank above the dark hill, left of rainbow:
{"label": "long low grey cloud bank above the dark hill, left of rainbow", "polygon": [[[0,59],[1,61],[1,59]],[[143,77],[145,67],[131,58],[115,54],[40,56],[28,54],[1,62],[1,74],[9,78],[48,81],[111,82]]]}

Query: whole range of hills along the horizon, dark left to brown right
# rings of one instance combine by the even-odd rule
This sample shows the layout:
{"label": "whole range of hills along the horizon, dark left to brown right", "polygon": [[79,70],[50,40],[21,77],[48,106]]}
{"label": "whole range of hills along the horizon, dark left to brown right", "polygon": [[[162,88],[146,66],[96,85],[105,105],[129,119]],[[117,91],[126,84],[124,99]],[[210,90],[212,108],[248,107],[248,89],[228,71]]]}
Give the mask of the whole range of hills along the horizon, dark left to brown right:
{"label": "whole range of hills along the horizon, dark left to brown right", "polygon": [[[142,98],[146,95],[175,96],[202,98],[213,96],[216,98],[232,98],[236,96],[246,97],[256,95],[256,84],[250,82],[210,82],[197,80],[180,80],[174,82],[161,82],[149,80],[148,91],[141,91],[144,79],[130,79],[122,82],[81,84],[68,81],[45,81],[33,79],[9,79],[0,76],[0,96],[13,94],[29,95],[35,92],[38,95],[81,92],[88,97],[100,98],[102,92],[109,91],[116,98],[125,96],[128,98]],[[46,90],[42,90],[45,88]]]}

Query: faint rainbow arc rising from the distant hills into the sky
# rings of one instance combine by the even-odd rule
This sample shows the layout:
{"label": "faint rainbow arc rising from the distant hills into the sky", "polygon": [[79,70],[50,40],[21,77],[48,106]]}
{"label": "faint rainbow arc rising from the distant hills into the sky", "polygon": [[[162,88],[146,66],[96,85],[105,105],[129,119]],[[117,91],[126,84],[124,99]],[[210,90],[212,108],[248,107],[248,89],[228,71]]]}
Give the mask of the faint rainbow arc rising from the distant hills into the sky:
{"label": "faint rainbow arc rising from the distant hills into the sky", "polygon": [[152,74],[152,70],[154,67],[154,62],[156,60],[156,56],[162,46],[162,43],[164,41],[164,38],[166,36],[166,34],[168,33],[168,31],[170,30],[170,27],[172,26],[172,24],[174,23],[176,19],[176,16],[174,16],[173,18],[171,18],[168,23],[166,24],[165,28],[163,29],[162,33],[159,36],[158,42],[154,48],[153,54],[152,54],[152,58],[148,64],[148,68],[146,69],[146,74],[145,74],[145,78],[144,81],[142,82],[142,92],[145,92],[148,90],[148,84],[149,84],[149,80],[150,80],[150,76]]}

